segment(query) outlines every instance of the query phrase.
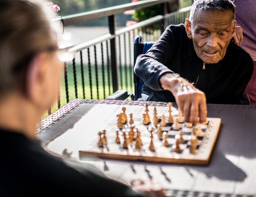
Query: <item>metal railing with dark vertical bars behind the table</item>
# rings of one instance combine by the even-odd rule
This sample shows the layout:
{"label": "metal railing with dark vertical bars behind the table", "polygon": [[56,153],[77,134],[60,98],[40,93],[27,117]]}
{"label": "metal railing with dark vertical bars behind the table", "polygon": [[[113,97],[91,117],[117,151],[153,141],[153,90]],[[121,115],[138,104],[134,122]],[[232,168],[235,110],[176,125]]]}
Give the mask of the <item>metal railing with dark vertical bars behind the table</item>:
{"label": "metal railing with dark vertical bars behind the table", "polygon": [[[108,17],[109,29],[109,33],[78,44],[71,49],[76,53],[76,57],[72,63],[64,64],[65,87],[60,86],[58,108],[68,103],[72,97],[73,99],[74,97],[106,99],[107,96],[119,89],[133,92],[134,37],[141,35],[147,41],[156,41],[164,31],[164,27],[169,24],[184,23],[185,18],[189,17],[191,7],[168,13],[168,3],[176,1],[144,0],[56,18],[55,20],[60,20],[66,27]],[[161,15],[117,30],[117,14],[157,4],[161,4]],[[73,73],[71,74],[71,72]],[[71,94],[73,96],[70,96]]]}

